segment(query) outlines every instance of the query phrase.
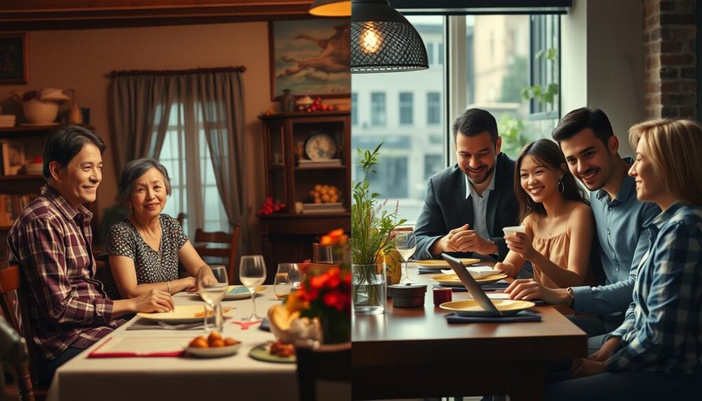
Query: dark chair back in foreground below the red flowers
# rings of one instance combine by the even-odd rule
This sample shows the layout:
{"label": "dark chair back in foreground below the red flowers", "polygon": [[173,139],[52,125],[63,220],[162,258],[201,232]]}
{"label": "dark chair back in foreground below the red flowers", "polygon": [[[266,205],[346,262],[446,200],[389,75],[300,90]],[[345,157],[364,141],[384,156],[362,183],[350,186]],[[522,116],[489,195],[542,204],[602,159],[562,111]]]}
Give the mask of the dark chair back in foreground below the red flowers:
{"label": "dark chair back in foreground below the red flowers", "polygon": [[300,400],[317,400],[317,381],[351,383],[351,343],[313,346],[296,344]]}

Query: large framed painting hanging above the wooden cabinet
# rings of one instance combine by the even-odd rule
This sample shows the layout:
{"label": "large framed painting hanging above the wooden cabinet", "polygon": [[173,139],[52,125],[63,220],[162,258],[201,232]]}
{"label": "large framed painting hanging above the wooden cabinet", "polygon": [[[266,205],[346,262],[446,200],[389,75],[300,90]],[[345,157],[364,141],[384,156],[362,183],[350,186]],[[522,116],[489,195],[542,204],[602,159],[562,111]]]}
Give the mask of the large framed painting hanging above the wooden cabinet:
{"label": "large framed painting hanging above the wooden cabinet", "polygon": [[351,93],[350,18],[268,22],[270,98],[345,98]]}

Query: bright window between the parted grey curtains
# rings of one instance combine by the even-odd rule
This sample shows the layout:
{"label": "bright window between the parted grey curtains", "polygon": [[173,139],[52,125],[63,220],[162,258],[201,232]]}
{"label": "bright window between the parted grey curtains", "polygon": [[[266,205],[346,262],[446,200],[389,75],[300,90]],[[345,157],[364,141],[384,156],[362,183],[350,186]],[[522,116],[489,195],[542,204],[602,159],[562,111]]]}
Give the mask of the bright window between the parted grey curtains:
{"label": "bright window between the parted grey curtains", "polygon": [[[201,210],[204,213],[205,231],[228,232],[229,219],[217,189],[204,130],[199,131],[197,138],[186,136],[183,130],[183,115],[183,107],[173,105],[168,131],[159,155],[159,162],[166,167],[168,175],[171,176],[173,190],[166,202],[164,213],[173,217],[181,212],[192,216],[192,213]],[[198,118],[198,121],[200,120]],[[183,230],[192,237],[197,227],[190,226],[190,221],[191,218],[185,219]]]}

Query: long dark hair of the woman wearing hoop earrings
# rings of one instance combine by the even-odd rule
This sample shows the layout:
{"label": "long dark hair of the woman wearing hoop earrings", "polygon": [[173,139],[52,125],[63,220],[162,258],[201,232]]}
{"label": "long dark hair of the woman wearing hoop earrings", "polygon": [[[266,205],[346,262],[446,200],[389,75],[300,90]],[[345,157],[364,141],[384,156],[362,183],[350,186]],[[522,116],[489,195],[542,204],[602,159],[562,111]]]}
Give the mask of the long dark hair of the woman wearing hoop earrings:
{"label": "long dark hair of the woman wearing hoop earrings", "polygon": [[539,139],[524,145],[522,150],[519,151],[519,157],[517,157],[517,163],[515,163],[515,195],[519,202],[519,221],[523,221],[524,218],[531,213],[538,213],[543,216],[546,215],[543,204],[534,202],[534,199],[531,199],[527,191],[522,188],[522,179],[520,178],[519,169],[522,168],[522,160],[527,156],[532,157],[537,164],[544,166],[546,169],[551,171],[563,171],[564,175],[561,179],[563,183],[562,197],[590,204],[587,195],[585,195],[585,190],[578,185],[570,170],[564,167],[564,165],[566,165],[566,159],[558,145],[549,139]]}

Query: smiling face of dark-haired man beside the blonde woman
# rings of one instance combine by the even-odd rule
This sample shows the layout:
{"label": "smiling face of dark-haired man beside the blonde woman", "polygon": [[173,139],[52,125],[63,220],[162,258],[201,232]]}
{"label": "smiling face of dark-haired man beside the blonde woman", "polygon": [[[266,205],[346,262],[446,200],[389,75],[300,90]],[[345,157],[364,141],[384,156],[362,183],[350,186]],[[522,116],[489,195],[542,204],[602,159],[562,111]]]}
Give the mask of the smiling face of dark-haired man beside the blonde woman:
{"label": "smiling face of dark-haired man beside the blonde woman", "polygon": [[588,190],[599,190],[609,183],[619,145],[616,136],[611,136],[605,146],[592,129],[586,128],[561,140],[560,145],[571,173]]}

